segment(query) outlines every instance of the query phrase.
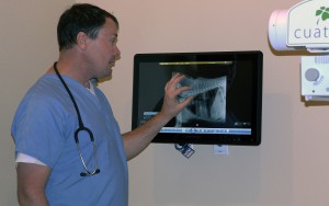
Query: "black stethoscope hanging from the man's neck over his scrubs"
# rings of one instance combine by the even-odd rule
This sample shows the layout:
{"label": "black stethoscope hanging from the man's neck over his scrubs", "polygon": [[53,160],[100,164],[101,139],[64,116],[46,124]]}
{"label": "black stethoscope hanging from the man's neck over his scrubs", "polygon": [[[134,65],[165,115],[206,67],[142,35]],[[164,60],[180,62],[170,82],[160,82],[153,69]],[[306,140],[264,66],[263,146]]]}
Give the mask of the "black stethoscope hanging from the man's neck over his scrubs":
{"label": "black stethoscope hanging from the man's neck over his scrubs", "polygon": [[[77,102],[71,93],[71,91],[69,90],[68,85],[66,84],[66,82],[64,81],[64,79],[61,78],[59,71],[57,70],[57,61],[54,62],[54,69],[55,69],[55,72],[57,75],[57,77],[59,78],[59,80],[61,81],[63,85],[65,87],[67,93],[69,94],[73,105],[75,105],[75,108],[76,108],[76,112],[77,112],[77,115],[78,115],[78,121],[79,121],[79,128],[75,131],[75,141],[76,141],[76,145],[77,145],[77,148],[78,148],[78,151],[79,151],[79,156],[80,156],[80,159],[81,159],[81,162],[83,164],[83,168],[84,168],[84,171],[86,172],[81,172],[80,175],[81,176],[90,176],[90,175],[94,175],[94,174],[98,174],[101,172],[101,170],[99,169],[99,164],[98,164],[98,156],[97,156],[97,147],[94,145],[94,138],[93,138],[93,134],[92,131],[88,128],[88,127],[84,127],[83,123],[82,123],[82,118],[81,118],[81,115],[80,115],[80,111],[79,111],[79,107],[77,105]],[[87,164],[84,162],[84,159],[82,157],[82,152],[81,152],[81,149],[80,149],[80,146],[79,146],[79,133],[80,131],[87,131],[89,134],[89,137],[90,137],[90,140],[91,140],[91,144],[92,144],[92,149],[93,149],[93,159],[94,159],[94,168],[92,171],[90,171],[88,168],[87,168]]]}

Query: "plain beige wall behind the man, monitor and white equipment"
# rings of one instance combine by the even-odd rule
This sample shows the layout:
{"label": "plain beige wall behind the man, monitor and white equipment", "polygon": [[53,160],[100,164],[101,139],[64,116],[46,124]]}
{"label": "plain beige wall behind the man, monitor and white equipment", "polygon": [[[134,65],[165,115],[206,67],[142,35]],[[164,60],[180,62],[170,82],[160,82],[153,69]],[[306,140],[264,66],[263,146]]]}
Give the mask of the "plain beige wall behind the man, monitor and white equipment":
{"label": "plain beige wall behind the man, monitor and white equipment", "polygon": [[[12,115],[26,89],[57,58],[55,26],[71,2],[14,0],[0,8],[0,205],[16,204]],[[228,157],[213,156],[212,146],[194,146],[196,153],[189,160],[172,145],[151,145],[129,162],[131,205],[329,205],[328,105],[302,102],[299,57],[273,54],[266,38],[271,12],[297,0],[89,2],[113,11],[121,22],[122,59],[101,89],[123,131],[131,128],[134,54],[246,49],[264,54],[262,145],[230,146]]]}

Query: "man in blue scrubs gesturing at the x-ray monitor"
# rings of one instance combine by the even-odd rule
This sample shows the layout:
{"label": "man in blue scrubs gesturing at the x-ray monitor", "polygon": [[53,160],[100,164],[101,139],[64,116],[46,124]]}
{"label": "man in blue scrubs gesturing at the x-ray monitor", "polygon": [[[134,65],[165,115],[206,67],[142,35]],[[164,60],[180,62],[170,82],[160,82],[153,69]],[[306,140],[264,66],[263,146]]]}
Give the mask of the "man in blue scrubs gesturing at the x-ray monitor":
{"label": "man in blue scrubs gesturing at the x-ray monitor", "polygon": [[60,16],[58,61],[29,90],[12,125],[20,205],[126,206],[127,160],[191,102],[177,100],[190,88],[177,88],[184,77],[175,75],[158,115],[121,135],[92,83],[112,76],[117,33],[116,18],[91,4],[75,4]]}

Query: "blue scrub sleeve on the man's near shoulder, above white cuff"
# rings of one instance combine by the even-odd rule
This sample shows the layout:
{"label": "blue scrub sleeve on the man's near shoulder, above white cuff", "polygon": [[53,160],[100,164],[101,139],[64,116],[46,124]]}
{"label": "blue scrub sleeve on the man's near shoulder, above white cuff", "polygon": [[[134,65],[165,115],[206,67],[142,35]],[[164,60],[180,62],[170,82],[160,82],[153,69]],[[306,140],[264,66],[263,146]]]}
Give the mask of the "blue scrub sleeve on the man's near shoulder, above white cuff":
{"label": "blue scrub sleeve on the man's near shoulder, above white cuff", "polygon": [[26,96],[18,108],[12,125],[15,152],[34,157],[50,168],[65,144],[59,106],[49,99]]}

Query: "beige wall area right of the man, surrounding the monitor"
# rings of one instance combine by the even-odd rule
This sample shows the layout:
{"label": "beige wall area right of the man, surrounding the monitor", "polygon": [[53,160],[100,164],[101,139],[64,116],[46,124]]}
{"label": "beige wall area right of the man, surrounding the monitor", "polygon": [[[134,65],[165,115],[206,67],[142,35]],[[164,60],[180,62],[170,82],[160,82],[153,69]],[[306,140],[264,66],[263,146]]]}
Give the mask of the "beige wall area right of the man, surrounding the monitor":
{"label": "beige wall area right of the man, surrounding the monitor", "polygon": [[172,145],[151,145],[129,162],[131,205],[329,205],[328,106],[305,106],[299,57],[274,55],[266,37],[272,11],[298,0],[89,2],[113,11],[121,22],[122,59],[113,80],[101,87],[124,131],[131,127],[134,54],[245,49],[264,54],[262,145],[229,147],[228,157],[213,156],[212,146],[194,146],[196,153],[189,160]]}

